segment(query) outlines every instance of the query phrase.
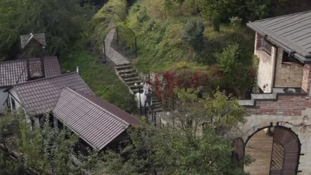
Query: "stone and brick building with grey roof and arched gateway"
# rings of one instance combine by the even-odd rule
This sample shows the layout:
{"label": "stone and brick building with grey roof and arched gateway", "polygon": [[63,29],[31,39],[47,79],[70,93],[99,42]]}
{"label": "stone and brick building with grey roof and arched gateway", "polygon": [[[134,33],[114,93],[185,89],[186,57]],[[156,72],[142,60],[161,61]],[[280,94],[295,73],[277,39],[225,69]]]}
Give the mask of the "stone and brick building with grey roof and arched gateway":
{"label": "stone and brick building with grey roof and arched gateway", "polygon": [[247,24],[256,32],[260,93],[239,100],[235,137],[256,161],[251,174],[311,174],[311,11]]}

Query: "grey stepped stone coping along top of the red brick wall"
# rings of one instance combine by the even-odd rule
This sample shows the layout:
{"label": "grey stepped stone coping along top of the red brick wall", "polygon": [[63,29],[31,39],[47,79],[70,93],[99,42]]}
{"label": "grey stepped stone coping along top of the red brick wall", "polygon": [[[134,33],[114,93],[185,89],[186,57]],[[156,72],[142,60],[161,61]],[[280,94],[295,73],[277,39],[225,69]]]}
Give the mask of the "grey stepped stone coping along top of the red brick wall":
{"label": "grey stepped stone coping along top of the red brick wall", "polygon": [[300,88],[273,88],[272,93],[251,94],[251,99],[238,100],[242,106],[256,106],[256,101],[277,101],[279,94],[303,94]]}

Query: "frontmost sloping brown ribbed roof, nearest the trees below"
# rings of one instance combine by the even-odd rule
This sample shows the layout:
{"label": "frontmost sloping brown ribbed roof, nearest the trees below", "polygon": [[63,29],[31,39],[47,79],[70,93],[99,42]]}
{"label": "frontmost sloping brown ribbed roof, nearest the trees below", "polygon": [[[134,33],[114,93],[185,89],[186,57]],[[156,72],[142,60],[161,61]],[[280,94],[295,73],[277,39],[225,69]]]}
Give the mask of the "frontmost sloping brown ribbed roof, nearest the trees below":
{"label": "frontmost sloping brown ribbed roof, nearest the trees below", "polygon": [[99,150],[129,125],[140,123],[134,116],[102,99],[69,88],[63,89],[53,114]]}

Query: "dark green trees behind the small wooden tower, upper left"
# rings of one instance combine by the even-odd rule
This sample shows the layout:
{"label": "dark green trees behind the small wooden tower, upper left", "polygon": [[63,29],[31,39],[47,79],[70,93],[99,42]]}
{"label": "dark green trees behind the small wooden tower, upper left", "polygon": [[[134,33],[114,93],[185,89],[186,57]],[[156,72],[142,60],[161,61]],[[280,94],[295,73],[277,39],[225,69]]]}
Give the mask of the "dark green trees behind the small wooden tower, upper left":
{"label": "dark green trees behind the small wooden tower, upper left", "polygon": [[79,2],[0,1],[0,57],[16,58],[21,53],[19,35],[29,33],[45,33],[48,54],[68,53],[92,14],[90,7],[80,7]]}

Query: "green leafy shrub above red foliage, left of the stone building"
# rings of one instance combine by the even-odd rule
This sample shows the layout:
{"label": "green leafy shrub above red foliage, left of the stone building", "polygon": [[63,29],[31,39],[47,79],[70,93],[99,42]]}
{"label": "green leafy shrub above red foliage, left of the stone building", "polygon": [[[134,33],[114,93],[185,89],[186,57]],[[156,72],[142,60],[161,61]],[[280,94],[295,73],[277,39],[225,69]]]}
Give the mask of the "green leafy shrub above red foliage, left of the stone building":
{"label": "green leafy shrub above red foliage, left of the stone building", "polygon": [[239,45],[237,43],[229,45],[221,53],[215,53],[214,56],[218,62],[219,70],[226,75],[232,75],[237,69]]}

